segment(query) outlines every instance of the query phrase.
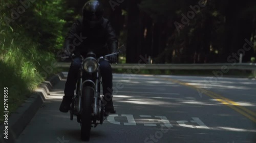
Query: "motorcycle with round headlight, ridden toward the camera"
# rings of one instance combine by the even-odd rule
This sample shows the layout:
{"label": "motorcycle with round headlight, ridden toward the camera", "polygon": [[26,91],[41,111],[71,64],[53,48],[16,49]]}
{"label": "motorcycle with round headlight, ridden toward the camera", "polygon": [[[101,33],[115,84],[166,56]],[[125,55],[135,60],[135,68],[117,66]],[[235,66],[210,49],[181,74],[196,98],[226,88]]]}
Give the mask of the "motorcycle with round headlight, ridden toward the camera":
{"label": "motorcycle with round headlight, ridden toward the camera", "polygon": [[[102,85],[101,74],[99,70],[99,62],[101,60],[108,61],[108,57],[114,54],[122,53],[124,45],[118,48],[115,53],[107,54],[96,59],[93,52],[88,52],[86,57],[80,55],[81,66],[79,69],[79,78],[76,85],[76,94],[74,95],[70,109],[70,120],[76,116],[77,122],[81,126],[81,139],[90,140],[91,128],[103,121],[109,116],[109,112],[104,111],[104,103],[100,96],[100,85]],[[73,54],[74,56],[74,54]],[[62,59],[70,58],[63,56]],[[115,113],[111,112],[111,113]]]}

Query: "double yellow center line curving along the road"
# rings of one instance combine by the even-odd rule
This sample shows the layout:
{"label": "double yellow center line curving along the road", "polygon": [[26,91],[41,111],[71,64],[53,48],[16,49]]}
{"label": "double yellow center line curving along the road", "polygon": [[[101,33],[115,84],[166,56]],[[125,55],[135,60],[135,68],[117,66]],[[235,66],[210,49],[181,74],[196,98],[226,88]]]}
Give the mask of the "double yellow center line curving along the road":
{"label": "double yellow center line curving along the road", "polygon": [[[196,85],[191,85],[189,83],[181,82],[179,80],[169,79],[169,78],[161,78],[161,79],[169,80],[169,81],[181,84],[181,85],[185,85],[186,87],[189,87],[189,88],[192,88],[192,89],[195,89],[195,90],[201,89],[201,88],[197,87]],[[202,89],[202,90],[206,91],[203,94],[205,94],[205,95],[207,95],[207,96],[209,96],[211,98],[216,99],[217,101],[219,101],[222,104],[232,108],[233,110],[239,112],[241,115],[247,117],[248,119],[250,119],[251,121],[256,123],[256,118],[253,117],[253,116],[256,117],[256,113],[254,113],[253,111],[251,111],[251,110],[249,110],[249,109],[239,105],[238,103],[236,103],[234,101],[231,101],[230,99],[225,98],[225,97],[223,97],[223,96],[221,96],[221,95],[219,95],[217,93],[214,93],[212,91],[205,90],[205,89]],[[221,98],[221,99],[219,99],[219,98]]]}

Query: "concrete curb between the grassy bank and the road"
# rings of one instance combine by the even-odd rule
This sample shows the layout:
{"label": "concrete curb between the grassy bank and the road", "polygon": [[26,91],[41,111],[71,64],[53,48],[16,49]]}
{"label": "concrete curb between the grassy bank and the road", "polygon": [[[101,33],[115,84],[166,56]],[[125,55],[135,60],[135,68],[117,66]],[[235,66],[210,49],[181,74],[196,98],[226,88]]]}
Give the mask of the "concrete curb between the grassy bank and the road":
{"label": "concrete curb between the grassy bank and the road", "polygon": [[[18,107],[15,113],[8,117],[8,139],[4,138],[3,133],[0,134],[1,143],[14,143],[20,133],[26,128],[31,119],[34,117],[36,111],[40,108],[45,101],[50,90],[64,78],[63,73],[56,74],[46,81],[42,82],[39,87],[25,100],[21,107]],[[1,132],[5,129],[6,125],[0,126]],[[4,132],[4,131],[3,131]]]}

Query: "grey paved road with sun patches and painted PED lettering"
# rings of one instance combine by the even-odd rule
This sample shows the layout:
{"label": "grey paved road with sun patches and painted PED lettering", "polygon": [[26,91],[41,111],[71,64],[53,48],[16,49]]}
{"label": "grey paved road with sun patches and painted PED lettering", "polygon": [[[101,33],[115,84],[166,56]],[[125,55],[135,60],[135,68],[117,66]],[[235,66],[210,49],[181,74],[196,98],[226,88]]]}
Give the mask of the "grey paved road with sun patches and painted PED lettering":
{"label": "grey paved road with sun patches and painted PED lettering", "polygon": [[[90,142],[255,143],[256,81],[209,78],[114,74],[117,114],[92,129]],[[81,142],[80,124],[58,110],[65,82],[16,143]]]}

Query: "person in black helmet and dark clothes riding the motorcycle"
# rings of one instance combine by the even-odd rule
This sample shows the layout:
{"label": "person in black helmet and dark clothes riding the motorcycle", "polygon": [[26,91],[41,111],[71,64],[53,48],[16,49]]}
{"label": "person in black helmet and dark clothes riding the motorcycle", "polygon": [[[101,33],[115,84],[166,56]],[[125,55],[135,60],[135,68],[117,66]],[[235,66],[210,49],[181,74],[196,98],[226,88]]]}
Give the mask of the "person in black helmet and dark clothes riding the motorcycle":
{"label": "person in black helmet and dark clothes riding the motorcycle", "polygon": [[[84,55],[88,51],[93,51],[97,58],[109,53],[114,53],[118,46],[118,39],[110,21],[103,17],[104,10],[102,4],[95,0],[88,1],[84,4],[82,11],[82,17],[72,25],[68,36],[65,38],[65,53],[68,55]],[[110,63],[116,63],[117,56],[112,55],[109,60]],[[112,100],[113,77],[110,63],[108,61],[101,61],[100,72],[102,77],[103,99],[107,102],[105,111],[112,113],[114,112]],[[61,112],[68,112],[71,108],[80,64],[81,62],[78,57],[73,59],[65,84],[65,95],[59,107]]]}

